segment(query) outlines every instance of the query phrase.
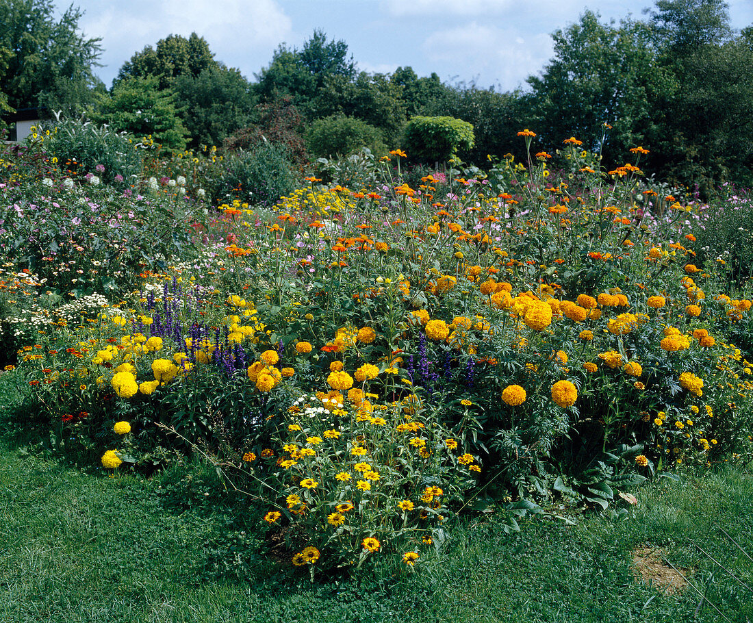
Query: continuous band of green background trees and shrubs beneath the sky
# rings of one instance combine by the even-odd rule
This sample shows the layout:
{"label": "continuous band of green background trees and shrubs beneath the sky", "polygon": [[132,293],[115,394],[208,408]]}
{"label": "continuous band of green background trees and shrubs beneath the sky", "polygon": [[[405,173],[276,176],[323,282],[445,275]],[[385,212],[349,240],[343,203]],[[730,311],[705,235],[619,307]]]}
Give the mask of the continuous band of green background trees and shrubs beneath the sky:
{"label": "continuous band of green background trees and shrubs beneath the sky", "polygon": [[[511,92],[447,84],[409,66],[358,71],[345,41],[315,31],[280,45],[254,81],[215,59],[206,40],[169,35],[136,52],[110,88],[94,75],[102,48],[79,34],[81,11],[54,18],[51,0],[0,0],[0,111],[45,106],[87,115],[165,148],[285,145],[291,157],[401,145],[417,115],[474,126],[462,157],[520,156],[529,127],[554,150],[577,136],[621,163],[651,150],[646,169],[708,191],[753,183],[753,26],[734,32],[723,0],[656,0],[643,19],[606,23],[586,11],[553,32],[541,75]],[[605,131],[608,129],[608,131]]]}

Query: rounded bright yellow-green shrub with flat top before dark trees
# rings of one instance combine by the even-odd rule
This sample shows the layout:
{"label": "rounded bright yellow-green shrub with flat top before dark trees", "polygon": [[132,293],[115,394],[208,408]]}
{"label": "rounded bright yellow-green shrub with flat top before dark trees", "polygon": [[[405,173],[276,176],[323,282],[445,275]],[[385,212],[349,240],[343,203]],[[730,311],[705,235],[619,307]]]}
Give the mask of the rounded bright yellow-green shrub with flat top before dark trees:
{"label": "rounded bright yellow-green shrub with flat top before dark trees", "polygon": [[473,125],[452,117],[413,117],[405,127],[410,157],[447,162],[474,146]]}

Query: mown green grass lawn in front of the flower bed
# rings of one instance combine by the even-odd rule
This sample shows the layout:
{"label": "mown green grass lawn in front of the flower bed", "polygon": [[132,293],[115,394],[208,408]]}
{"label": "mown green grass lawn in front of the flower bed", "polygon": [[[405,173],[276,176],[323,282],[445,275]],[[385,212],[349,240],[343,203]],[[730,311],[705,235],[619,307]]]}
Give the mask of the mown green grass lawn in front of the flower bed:
{"label": "mown green grass lawn in front of the flower bed", "polygon": [[[0,375],[0,408],[11,404]],[[11,402],[8,402],[8,401]],[[660,548],[731,621],[753,619],[753,475],[732,467],[636,491],[623,521],[535,518],[505,535],[469,518],[417,573],[377,567],[311,583],[261,554],[258,509],[211,468],[151,480],[82,472],[0,449],[0,621],[694,621],[700,597],[636,580],[631,551]],[[253,519],[252,519],[253,518]],[[698,621],[724,621],[708,604]]]}

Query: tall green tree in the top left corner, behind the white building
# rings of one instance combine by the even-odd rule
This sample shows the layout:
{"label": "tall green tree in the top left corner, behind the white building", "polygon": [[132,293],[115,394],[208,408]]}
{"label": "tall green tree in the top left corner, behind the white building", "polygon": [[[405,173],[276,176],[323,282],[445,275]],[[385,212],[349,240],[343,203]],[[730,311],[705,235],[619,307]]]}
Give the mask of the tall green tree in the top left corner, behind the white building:
{"label": "tall green tree in the top left corner, behind the white building", "polygon": [[78,112],[92,99],[100,40],[81,35],[78,8],[54,13],[50,0],[0,0],[0,89],[12,108]]}

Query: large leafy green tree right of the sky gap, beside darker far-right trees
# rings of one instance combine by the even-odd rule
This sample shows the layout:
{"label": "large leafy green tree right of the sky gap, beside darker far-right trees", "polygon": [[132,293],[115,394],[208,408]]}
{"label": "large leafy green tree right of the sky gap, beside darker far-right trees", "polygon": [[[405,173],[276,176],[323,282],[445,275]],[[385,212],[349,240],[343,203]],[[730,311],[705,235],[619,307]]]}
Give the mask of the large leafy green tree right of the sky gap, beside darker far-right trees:
{"label": "large leafy green tree right of the sky gap, beside darker far-right trees", "polygon": [[[552,36],[555,56],[541,77],[528,80],[530,112],[524,120],[547,148],[576,136],[589,148],[603,148],[608,160],[620,160],[628,148],[656,133],[661,104],[678,84],[672,71],[657,63],[647,24],[624,20],[614,26],[586,11],[578,23]],[[612,130],[603,143],[605,124]]]}

